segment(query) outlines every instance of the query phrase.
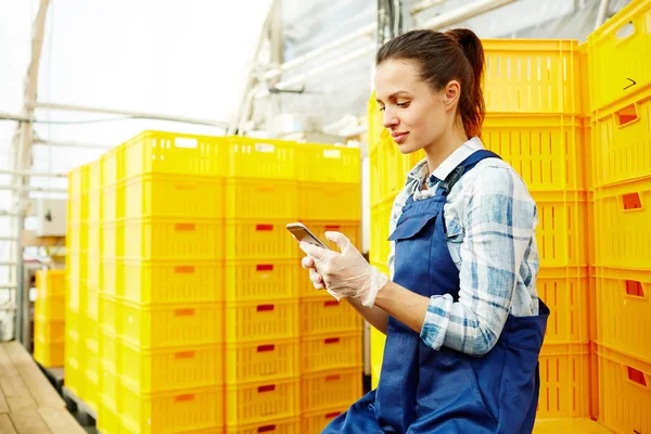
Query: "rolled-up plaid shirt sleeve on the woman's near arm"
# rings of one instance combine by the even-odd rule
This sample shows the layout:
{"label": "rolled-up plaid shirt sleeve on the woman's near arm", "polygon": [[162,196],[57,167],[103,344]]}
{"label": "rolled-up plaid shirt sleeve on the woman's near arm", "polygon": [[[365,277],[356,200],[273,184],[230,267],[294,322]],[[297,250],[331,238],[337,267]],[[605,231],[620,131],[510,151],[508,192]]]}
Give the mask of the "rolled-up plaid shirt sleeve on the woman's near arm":
{"label": "rolled-up plaid shirt sleeve on the woman's near arm", "polygon": [[472,356],[488,353],[501,334],[537,222],[536,204],[513,169],[481,170],[461,218],[459,299],[431,297],[421,330],[432,348]]}

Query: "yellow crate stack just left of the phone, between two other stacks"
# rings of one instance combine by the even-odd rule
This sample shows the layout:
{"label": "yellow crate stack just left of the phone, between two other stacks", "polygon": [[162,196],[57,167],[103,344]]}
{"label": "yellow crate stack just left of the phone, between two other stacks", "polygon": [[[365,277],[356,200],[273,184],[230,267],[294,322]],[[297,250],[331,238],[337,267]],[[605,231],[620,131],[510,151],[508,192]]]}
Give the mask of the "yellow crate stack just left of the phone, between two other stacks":
{"label": "yellow crate stack just left of the phone, between two other stacks", "polygon": [[226,425],[293,432],[298,417],[295,143],[229,138]]}

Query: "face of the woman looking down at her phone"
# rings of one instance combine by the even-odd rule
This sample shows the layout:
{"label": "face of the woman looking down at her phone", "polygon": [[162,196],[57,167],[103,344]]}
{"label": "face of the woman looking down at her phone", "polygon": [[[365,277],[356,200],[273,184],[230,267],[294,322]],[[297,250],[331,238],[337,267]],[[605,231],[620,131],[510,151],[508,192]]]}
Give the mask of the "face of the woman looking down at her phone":
{"label": "face of the woman looking down at her phone", "polygon": [[375,98],[383,125],[403,154],[436,143],[454,124],[445,91],[436,92],[419,76],[417,63],[390,60],[375,69]]}

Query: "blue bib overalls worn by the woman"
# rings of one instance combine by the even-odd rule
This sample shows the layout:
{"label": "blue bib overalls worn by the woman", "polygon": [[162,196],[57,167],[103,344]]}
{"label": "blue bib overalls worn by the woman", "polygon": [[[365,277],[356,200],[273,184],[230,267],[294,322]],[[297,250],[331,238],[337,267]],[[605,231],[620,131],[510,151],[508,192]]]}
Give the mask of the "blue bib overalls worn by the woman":
{"label": "blue bib overalls worn by the woman", "polygon": [[[396,241],[394,282],[426,297],[450,294],[458,301],[459,270],[448,250],[443,206],[461,175],[488,157],[498,156],[474,152],[441,182],[436,195],[409,197],[390,237]],[[509,315],[497,344],[481,358],[445,346],[434,350],[390,316],[378,388],[323,433],[531,433],[548,316],[542,302],[538,316]]]}

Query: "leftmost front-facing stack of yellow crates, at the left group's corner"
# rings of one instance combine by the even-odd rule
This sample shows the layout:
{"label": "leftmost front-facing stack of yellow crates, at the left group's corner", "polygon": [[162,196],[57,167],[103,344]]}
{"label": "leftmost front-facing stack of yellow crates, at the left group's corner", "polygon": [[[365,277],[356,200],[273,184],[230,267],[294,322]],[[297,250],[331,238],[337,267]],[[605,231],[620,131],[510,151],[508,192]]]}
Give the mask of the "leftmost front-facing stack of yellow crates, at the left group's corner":
{"label": "leftmost front-facing stack of yellow crates, at the left group's corner", "polygon": [[145,131],[118,150],[115,387],[124,433],[224,427],[226,164],[216,137]]}

